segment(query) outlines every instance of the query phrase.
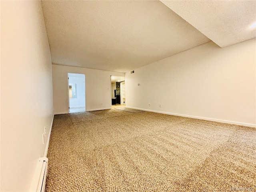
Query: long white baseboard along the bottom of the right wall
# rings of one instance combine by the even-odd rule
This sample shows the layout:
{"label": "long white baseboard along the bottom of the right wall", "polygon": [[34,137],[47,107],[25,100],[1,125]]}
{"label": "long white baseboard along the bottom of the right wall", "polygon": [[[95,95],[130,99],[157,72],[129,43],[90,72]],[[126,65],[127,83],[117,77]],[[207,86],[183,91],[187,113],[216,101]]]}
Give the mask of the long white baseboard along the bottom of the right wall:
{"label": "long white baseboard along the bottom of the right wall", "polygon": [[177,113],[169,113],[169,112],[162,112],[162,111],[154,111],[154,110],[148,110],[148,109],[142,109],[142,108],[136,108],[136,107],[128,107],[128,106],[126,106],[126,108],[138,109],[138,110],[144,110],[144,111],[154,112],[154,113],[161,113],[161,114],[167,114],[167,115],[188,117],[188,118],[194,118],[194,119],[202,119],[202,120],[208,120],[208,121],[214,121],[214,122],[220,122],[220,123],[228,123],[228,124],[234,124],[234,125],[242,125],[242,126],[256,128],[256,124],[250,124],[250,123],[228,121],[228,120],[221,120],[221,119],[214,119],[214,118],[206,118],[206,117],[192,116],[192,115],[184,115],[184,114],[177,114]]}

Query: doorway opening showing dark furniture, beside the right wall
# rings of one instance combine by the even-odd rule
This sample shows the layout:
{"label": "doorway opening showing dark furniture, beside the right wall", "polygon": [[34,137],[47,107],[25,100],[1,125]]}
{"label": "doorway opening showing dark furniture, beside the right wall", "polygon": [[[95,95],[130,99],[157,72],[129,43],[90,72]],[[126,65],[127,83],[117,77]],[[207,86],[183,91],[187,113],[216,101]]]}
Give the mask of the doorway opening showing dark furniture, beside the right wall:
{"label": "doorway opening showing dark furniture, beside the right wall", "polygon": [[112,106],[125,107],[125,81],[124,77],[111,76]]}

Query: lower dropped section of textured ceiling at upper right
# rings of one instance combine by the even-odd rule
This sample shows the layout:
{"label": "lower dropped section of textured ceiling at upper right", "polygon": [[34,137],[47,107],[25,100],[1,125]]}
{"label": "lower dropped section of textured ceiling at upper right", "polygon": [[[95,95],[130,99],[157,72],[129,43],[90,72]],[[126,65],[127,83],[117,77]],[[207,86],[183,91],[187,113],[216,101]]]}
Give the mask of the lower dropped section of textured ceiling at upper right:
{"label": "lower dropped section of textured ceiling at upper right", "polygon": [[160,0],[220,47],[256,37],[255,0]]}

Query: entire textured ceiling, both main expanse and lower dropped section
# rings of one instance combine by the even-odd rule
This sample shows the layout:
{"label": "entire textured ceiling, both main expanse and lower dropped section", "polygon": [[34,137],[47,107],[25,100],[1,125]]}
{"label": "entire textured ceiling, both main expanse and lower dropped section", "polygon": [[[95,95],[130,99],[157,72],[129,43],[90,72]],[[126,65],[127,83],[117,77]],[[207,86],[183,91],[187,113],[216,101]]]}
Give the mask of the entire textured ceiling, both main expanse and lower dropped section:
{"label": "entire textured ceiling, both main expanse and lower dropped section", "polygon": [[162,2],[43,0],[52,62],[128,72],[210,40],[256,36],[256,1]]}

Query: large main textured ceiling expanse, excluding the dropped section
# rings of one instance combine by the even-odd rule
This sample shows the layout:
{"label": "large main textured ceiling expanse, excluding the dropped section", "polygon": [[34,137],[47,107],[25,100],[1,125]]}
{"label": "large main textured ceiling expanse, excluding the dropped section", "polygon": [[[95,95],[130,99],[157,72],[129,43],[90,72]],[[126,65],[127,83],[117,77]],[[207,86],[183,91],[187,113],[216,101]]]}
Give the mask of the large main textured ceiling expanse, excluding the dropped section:
{"label": "large main textured ceiling expanse, excluding the dropped section", "polygon": [[52,63],[116,72],[209,42],[160,1],[42,1]]}

